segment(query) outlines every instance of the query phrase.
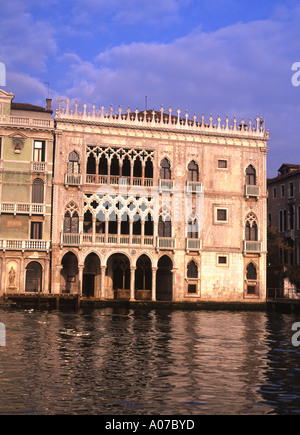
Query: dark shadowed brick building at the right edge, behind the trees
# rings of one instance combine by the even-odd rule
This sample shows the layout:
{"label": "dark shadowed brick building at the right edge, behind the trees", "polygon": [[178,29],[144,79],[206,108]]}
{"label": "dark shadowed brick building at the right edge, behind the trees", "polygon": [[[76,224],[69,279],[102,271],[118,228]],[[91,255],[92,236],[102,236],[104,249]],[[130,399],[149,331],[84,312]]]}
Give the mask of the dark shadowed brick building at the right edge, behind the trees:
{"label": "dark shadowed brick building at the right edge, behind the trees", "polygon": [[279,249],[279,264],[270,265],[268,286],[291,288],[280,276],[287,267],[300,265],[300,165],[283,164],[278,176],[268,179],[268,194],[268,224],[287,246]]}

